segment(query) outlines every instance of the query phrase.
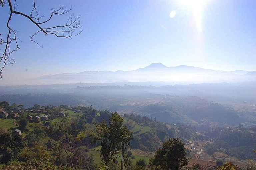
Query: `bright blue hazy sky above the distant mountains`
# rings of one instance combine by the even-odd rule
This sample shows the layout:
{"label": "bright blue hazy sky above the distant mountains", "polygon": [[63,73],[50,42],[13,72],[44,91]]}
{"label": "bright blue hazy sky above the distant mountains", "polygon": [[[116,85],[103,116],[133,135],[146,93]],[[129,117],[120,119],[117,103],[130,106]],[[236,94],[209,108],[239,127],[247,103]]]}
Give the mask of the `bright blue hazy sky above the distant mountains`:
{"label": "bright blue hazy sky above the distant mountains", "polygon": [[[14,15],[11,26],[19,31],[21,49],[12,54],[16,63],[6,66],[0,81],[86,70],[134,70],[152,62],[256,70],[256,1],[191,1],[38,0],[39,12],[46,16],[50,8],[72,5],[70,14],[82,15],[83,32],[72,40],[37,36],[40,48],[29,41],[37,28]],[[17,0],[17,10],[30,14],[32,2]],[[8,10],[8,6],[0,8],[2,38]],[[66,23],[68,17],[57,16],[53,24]]]}

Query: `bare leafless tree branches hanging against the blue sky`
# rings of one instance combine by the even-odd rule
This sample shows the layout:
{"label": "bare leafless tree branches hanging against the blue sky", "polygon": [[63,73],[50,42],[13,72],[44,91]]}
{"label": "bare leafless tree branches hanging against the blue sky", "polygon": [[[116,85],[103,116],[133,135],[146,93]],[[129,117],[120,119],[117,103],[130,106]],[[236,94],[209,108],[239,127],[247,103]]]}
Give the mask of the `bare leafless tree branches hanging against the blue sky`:
{"label": "bare leafless tree branches hanging against the blue sky", "polygon": [[80,27],[80,15],[71,15],[67,23],[64,25],[56,25],[56,26],[45,26],[46,23],[48,23],[54,16],[57,15],[64,15],[72,10],[72,7],[67,9],[64,5],[60,6],[59,9],[50,9],[50,16],[48,19],[41,21],[42,18],[45,16],[39,16],[38,6],[36,6],[36,2],[34,0],[33,3],[33,9],[30,13],[30,15],[24,14],[22,12],[19,12],[16,10],[16,0],[14,0],[14,7],[12,6],[11,0],[0,0],[0,6],[4,7],[4,5],[8,4],[10,8],[10,15],[6,24],[6,27],[8,28],[8,33],[6,36],[6,39],[2,39],[2,35],[0,34],[0,45],[4,45],[3,50],[1,51],[0,48],[0,64],[2,64],[2,67],[0,68],[0,76],[2,77],[2,71],[6,64],[14,64],[14,60],[11,58],[11,54],[15,51],[17,51],[19,48],[19,44],[17,40],[19,40],[16,36],[16,30],[13,30],[9,24],[11,21],[11,18],[13,14],[21,15],[27,19],[29,19],[39,30],[34,33],[30,37],[30,41],[35,42],[39,47],[38,42],[34,40],[34,37],[38,35],[39,33],[43,33],[45,36],[53,35],[55,37],[61,37],[61,38],[72,38],[75,37],[83,31],[82,29],[78,32],[75,32],[76,29],[81,28]]}

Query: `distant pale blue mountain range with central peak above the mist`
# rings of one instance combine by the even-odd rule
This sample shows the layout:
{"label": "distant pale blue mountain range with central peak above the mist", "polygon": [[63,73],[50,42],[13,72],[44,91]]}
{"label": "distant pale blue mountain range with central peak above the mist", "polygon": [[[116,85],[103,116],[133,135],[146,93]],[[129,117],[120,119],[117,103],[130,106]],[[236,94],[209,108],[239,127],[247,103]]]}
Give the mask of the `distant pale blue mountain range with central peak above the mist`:
{"label": "distant pale blue mountain range with central peak above the mist", "polygon": [[256,71],[221,71],[193,66],[179,65],[167,67],[162,63],[152,63],[132,71],[84,71],[45,75],[21,81],[23,84],[63,84],[63,83],[120,83],[120,82],[246,82],[255,81]]}

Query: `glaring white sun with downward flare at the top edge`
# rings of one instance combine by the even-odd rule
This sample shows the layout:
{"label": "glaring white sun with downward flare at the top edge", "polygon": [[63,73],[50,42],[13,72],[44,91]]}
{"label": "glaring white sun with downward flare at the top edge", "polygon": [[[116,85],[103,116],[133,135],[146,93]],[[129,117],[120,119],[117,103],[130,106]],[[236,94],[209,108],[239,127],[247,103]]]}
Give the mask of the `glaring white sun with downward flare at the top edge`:
{"label": "glaring white sun with downward flare at the top edge", "polygon": [[202,13],[206,1],[207,0],[179,0],[182,6],[191,8],[198,31],[202,31]]}

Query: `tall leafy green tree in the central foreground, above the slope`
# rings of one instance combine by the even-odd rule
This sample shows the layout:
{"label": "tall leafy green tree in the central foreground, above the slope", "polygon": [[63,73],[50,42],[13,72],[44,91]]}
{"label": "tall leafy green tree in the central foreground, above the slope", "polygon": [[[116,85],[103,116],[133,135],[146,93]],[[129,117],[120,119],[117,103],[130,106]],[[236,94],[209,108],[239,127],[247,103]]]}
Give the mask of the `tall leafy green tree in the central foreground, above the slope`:
{"label": "tall leafy green tree in the central foreground, above the slope", "polygon": [[124,153],[133,136],[132,132],[123,125],[123,118],[117,112],[112,113],[108,125],[104,120],[96,124],[95,130],[90,133],[90,138],[92,143],[100,142],[101,158],[107,164],[121,150],[121,169],[125,168]]}

